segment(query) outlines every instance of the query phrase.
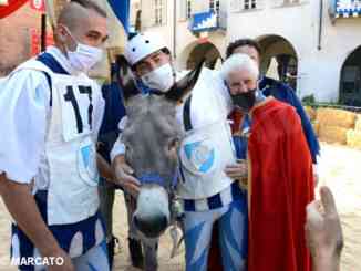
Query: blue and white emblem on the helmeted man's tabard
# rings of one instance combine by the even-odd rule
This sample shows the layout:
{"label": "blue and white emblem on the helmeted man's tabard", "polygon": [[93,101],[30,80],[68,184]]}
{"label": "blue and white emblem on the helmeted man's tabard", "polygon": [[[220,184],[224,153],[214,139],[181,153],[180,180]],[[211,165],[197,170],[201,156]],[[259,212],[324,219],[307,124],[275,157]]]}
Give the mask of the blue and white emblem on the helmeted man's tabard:
{"label": "blue and white emblem on the helmeted man's tabard", "polygon": [[187,159],[199,173],[207,173],[215,163],[215,149],[203,142],[195,142],[184,145],[184,152]]}

